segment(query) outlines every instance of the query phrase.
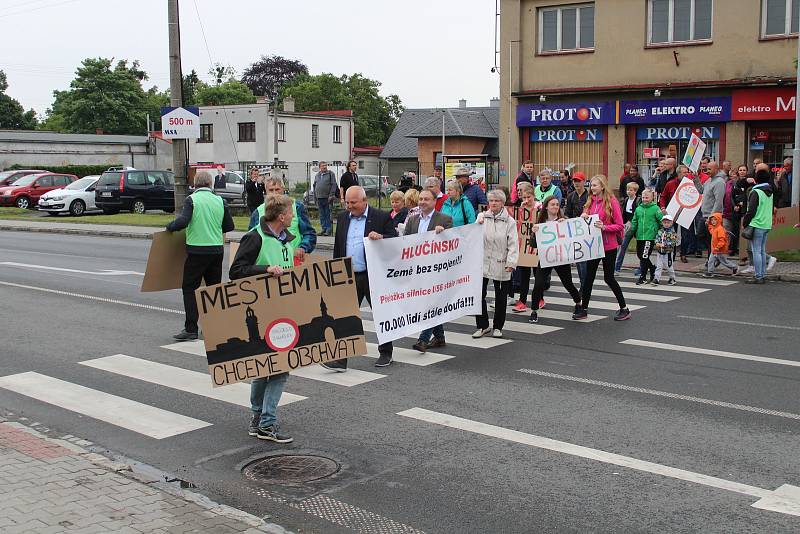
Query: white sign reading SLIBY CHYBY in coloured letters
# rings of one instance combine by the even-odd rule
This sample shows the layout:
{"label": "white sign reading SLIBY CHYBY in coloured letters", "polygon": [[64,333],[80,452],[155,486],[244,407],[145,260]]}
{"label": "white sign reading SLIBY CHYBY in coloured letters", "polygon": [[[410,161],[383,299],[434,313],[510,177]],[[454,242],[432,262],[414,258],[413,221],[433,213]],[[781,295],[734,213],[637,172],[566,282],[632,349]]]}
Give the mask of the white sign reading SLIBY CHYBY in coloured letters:
{"label": "white sign reading SLIBY CHYBY in coloured letters", "polygon": [[599,220],[591,215],[540,224],[536,233],[539,265],[555,267],[605,256],[603,233],[594,225]]}

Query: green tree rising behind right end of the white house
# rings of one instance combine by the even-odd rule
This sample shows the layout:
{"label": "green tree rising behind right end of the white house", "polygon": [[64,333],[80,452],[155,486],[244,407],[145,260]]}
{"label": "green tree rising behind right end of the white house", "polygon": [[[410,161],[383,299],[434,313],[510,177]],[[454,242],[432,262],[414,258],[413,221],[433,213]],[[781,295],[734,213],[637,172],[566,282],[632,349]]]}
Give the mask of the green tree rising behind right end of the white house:
{"label": "green tree rising behind right end of the white house", "polygon": [[301,74],[287,83],[280,100],[291,96],[298,111],[351,109],[356,146],[382,145],[403,113],[403,104],[397,95],[382,97],[380,86],[380,82],[358,73],[351,76]]}

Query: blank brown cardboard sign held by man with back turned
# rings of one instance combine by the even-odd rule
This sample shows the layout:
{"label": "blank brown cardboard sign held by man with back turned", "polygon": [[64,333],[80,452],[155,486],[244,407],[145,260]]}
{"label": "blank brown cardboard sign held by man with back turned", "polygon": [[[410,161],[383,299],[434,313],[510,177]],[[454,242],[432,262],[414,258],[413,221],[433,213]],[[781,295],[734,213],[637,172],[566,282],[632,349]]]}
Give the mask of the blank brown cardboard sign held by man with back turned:
{"label": "blank brown cardboard sign held by man with back turned", "polygon": [[186,233],[155,232],[142,279],[142,293],[180,289],[186,262]]}

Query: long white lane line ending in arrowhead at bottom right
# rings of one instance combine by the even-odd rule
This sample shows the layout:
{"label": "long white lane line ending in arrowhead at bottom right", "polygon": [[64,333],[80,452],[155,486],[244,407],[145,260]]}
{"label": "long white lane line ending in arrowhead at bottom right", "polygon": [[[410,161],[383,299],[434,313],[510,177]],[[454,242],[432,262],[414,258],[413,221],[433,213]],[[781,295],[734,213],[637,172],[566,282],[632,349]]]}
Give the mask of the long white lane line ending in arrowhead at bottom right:
{"label": "long white lane line ending in arrowhead at bottom right", "polygon": [[685,469],[678,469],[676,467],[648,462],[646,460],[639,460],[630,456],[622,456],[620,454],[614,454],[599,449],[591,449],[589,447],[583,447],[581,445],[575,445],[565,441],[557,441],[542,436],[526,434],[524,432],[489,425],[479,421],[472,421],[470,419],[463,419],[454,415],[425,410],[423,408],[411,408],[410,410],[399,412],[397,415],[402,415],[403,417],[408,417],[410,419],[425,421],[457,430],[464,430],[466,432],[472,432],[473,434],[480,434],[483,436],[502,439],[512,443],[528,445],[538,449],[568,454],[578,458],[585,458],[587,460],[594,460],[606,464],[635,469],[637,471],[643,471],[645,473],[652,473],[654,475],[683,480],[693,484],[701,484],[712,488],[748,495],[750,497],[759,499],[752,505],[756,508],[800,516],[800,488],[790,486],[788,484],[784,484],[775,491],[762,489],[756,486],[733,482],[731,480],[703,475],[701,473],[694,473]]}

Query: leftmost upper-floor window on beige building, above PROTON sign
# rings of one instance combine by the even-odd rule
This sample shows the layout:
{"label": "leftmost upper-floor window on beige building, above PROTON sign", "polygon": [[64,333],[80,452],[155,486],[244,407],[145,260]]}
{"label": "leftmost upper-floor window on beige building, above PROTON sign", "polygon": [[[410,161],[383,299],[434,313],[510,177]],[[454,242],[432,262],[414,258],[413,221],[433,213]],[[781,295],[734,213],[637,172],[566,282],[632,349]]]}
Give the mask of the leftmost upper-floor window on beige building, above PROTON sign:
{"label": "leftmost upper-floor window on beige building, above PROTON sign", "polygon": [[594,3],[539,9],[539,52],[594,49]]}

